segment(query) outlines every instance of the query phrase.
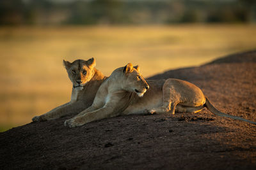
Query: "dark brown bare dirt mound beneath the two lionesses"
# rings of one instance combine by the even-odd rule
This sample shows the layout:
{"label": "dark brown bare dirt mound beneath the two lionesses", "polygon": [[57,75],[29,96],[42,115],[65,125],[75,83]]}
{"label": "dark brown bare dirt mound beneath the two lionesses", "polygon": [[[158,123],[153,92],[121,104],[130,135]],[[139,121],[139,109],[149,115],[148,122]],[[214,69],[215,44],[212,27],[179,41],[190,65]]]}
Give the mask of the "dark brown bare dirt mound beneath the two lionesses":
{"label": "dark brown bare dirt mound beneath the two lionesses", "polygon": [[[195,83],[219,110],[256,122],[256,51],[150,79]],[[256,125],[204,109],[64,127],[69,117],[0,133],[0,169],[256,169]]]}

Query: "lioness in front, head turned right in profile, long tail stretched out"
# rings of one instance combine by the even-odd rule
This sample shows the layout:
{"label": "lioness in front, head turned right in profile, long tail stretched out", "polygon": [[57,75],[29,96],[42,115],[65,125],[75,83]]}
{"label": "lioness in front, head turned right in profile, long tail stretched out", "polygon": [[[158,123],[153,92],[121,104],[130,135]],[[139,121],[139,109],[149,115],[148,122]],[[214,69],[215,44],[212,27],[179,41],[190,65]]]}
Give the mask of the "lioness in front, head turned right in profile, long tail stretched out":
{"label": "lioness in front, head turned right in profile, long tail stretched out", "polygon": [[77,127],[94,120],[132,113],[196,113],[204,107],[221,117],[255,124],[250,120],[216,110],[202,90],[188,81],[173,78],[145,81],[140,73],[140,67],[132,67],[129,63],[125,67],[115,69],[100,85],[92,106],[76,117],[66,120],[65,126]]}

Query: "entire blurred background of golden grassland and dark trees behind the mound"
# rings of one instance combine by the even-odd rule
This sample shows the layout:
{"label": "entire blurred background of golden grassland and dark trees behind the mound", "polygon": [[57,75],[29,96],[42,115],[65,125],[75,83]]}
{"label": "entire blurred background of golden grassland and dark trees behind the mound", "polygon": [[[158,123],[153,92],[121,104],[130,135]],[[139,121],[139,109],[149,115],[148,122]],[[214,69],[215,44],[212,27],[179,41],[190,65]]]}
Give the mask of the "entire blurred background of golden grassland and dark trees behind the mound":
{"label": "entire blurred background of golden grassland and dark trees behind the mound", "polygon": [[[17,5],[19,4],[19,5]],[[253,1],[0,2],[0,131],[70,100],[62,60],[145,77],[256,47]]]}

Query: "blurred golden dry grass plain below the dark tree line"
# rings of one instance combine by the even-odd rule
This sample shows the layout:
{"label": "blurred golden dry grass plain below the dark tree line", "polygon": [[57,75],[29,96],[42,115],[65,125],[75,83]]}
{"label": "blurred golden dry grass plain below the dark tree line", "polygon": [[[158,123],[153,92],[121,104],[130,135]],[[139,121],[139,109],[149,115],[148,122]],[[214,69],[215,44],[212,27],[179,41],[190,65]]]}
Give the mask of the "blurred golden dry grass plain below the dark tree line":
{"label": "blurred golden dry grass plain below the dark tree line", "polygon": [[0,127],[21,125],[69,100],[62,59],[97,59],[109,75],[127,62],[145,77],[256,48],[256,25],[1,27]]}

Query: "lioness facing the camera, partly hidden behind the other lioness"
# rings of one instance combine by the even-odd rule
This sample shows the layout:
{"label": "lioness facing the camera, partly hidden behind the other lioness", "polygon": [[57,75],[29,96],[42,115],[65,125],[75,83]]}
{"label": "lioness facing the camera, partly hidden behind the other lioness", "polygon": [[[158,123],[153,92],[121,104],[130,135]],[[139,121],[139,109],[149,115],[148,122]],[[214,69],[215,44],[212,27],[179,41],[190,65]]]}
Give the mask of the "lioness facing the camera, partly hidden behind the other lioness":
{"label": "lioness facing the camera, partly hidden behind the other lioness", "polygon": [[96,61],[93,58],[75,60],[72,63],[63,60],[63,64],[73,84],[70,102],[32,118],[33,122],[52,120],[65,115],[80,113],[92,105],[97,90],[101,83],[106,80],[106,76],[95,68]]}

